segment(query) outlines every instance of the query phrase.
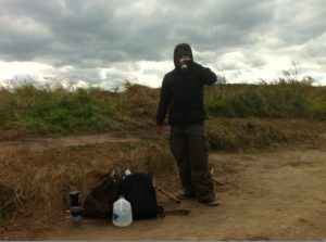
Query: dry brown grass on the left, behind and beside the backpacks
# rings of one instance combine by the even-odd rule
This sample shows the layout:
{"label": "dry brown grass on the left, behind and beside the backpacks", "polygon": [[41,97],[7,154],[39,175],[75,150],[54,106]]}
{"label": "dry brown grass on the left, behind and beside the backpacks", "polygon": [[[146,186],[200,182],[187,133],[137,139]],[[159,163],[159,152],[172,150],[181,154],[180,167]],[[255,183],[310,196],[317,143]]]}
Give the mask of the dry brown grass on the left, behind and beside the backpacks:
{"label": "dry brown grass on the left, behind and beside the backpacks", "polygon": [[154,177],[175,169],[164,142],[102,143],[45,152],[0,151],[0,184],[13,191],[0,205],[2,218],[15,224],[37,216],[41,216],[38,221],[45,221],[62,214],[68,208],[70,191],[79,190],[86,195],[99,175],[117,166]]}

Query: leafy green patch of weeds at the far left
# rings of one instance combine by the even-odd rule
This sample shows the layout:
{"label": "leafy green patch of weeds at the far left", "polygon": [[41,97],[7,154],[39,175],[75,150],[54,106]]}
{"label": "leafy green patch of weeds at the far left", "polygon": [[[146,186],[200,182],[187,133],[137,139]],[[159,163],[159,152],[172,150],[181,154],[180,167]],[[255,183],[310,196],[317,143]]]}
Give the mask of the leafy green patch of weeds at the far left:
{"label": "leafy green patch of weeds at the far left", "polygon": [[102,131],[111,127],[117,113],[99,102],[91,90],[36,89],[25,85],[2,90],[7,99],[0,106],[0,125],[41,135]]}

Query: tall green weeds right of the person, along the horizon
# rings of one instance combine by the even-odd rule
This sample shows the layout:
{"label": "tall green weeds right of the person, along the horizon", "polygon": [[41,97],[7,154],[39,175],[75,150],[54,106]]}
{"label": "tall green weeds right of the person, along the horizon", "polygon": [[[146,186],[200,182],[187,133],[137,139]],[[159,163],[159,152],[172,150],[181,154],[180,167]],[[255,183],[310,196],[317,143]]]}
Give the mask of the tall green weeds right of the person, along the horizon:
{"label": "tall green weeds right of the person, along the horizon", "polygon": [[226,85],[208,88],[206,93],[211,116],[326,119],[326,87],[300,81]]}

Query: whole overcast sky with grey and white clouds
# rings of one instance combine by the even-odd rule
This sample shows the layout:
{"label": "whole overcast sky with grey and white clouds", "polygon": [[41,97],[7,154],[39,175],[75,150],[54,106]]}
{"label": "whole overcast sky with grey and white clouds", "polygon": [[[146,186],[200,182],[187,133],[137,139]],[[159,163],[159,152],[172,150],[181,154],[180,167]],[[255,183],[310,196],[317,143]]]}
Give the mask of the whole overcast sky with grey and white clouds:
{"label": "whole overcast sky with grey and white clouds", "polygon": [[0,85],[160,87],[176,43],[227,82],[326,85],[325,0],[0,0]]}

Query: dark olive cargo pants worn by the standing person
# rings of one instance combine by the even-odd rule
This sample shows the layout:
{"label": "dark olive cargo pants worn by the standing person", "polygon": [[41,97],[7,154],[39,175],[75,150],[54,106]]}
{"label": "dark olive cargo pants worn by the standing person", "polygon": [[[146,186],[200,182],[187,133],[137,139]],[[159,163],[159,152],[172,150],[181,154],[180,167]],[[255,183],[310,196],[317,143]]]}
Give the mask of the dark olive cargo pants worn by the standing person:
{"label": "dark olive cargo pants worn by the standing person", "polygon": [[170,148],[185,191],[193,193],[199,201],[215,198],[203,125],[171,126]]}

